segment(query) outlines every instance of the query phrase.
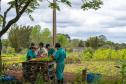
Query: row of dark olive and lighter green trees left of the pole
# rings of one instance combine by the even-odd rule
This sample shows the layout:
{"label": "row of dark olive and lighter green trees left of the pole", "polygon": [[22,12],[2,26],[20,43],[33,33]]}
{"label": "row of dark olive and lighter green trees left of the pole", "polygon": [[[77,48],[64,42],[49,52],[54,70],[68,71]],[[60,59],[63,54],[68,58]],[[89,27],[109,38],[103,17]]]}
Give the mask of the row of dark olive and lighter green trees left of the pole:
{"label": "row of dark olive and lighter green trees left of the pole", "polygon": [[8,33],[10,46],[16,52],[28,48],[31,42],[39,44],[40,42],[50,43],[51,32],[48,28],[41,30],[39,25],[36,26],[18,26],[13,25]]}

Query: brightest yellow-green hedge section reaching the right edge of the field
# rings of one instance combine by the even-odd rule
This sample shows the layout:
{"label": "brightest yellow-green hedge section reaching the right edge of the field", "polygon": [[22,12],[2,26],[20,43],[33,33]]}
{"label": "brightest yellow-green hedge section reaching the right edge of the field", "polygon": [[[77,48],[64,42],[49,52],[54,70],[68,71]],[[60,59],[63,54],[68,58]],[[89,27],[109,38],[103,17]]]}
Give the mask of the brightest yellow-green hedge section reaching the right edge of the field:
{"label": "brightest yellow-green hedge section reaching the right edge of the field", "polygon": [[126,49],[98,49],[95,51],[94,60],[120,60],[126,59]]}

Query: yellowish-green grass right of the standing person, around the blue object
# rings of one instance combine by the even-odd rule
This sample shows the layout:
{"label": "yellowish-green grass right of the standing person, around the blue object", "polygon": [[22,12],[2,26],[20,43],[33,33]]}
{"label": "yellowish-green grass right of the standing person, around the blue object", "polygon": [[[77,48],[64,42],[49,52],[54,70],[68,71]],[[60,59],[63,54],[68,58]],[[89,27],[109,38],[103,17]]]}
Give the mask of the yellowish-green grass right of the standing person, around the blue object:
{"label": "yellowish-green grass right of the standing person, around the blue object", "polygon": [[65,72],[76,73],[79,78],[75,81],[81,80],[81,71],[85,68],[88,72],[102,74],[102,79],[99,84],[121,84],[120,70],[115,66],[118,61],[85,61],[81,64],[66,64]]}

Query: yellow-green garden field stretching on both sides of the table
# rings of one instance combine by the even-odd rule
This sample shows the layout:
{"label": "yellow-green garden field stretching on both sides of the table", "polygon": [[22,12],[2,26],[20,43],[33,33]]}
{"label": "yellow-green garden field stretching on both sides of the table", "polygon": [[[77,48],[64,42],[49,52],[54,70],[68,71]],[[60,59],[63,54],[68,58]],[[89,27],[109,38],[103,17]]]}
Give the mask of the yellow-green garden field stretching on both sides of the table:
{"label": "yellow-green garden field stretching on both sides of the table", "polygon": [[[79,83],[82,80],[82,70],[87,73],[100,74],[99,84],[122,84],[125,82],[126,49],[85,49],[83,52],[70,52],[66,58],[65,82]],[[38,59],[40,60],[40,59]],[[44,60],[50,60],[45,58]],[[22,70],[21,62],[25,61],[23,54],[3,54],[4,74],[7,70]],[[75,75],[75,76],[74,76]]]}

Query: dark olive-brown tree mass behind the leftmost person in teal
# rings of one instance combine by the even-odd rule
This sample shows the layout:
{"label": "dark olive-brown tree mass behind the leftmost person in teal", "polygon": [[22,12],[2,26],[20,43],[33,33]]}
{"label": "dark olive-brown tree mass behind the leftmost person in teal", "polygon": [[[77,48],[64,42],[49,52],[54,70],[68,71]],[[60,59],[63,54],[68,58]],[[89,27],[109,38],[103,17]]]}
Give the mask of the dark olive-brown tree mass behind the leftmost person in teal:
{"label": "dark olive-brown tree mass behind the leftmost person in teal", "polygon": [[11,27],[8,34],[8,39],[11,47],[15,48],[16,52],[20,52],[22,48],[28,48],[30,44],[30,26],[17,26]]}

